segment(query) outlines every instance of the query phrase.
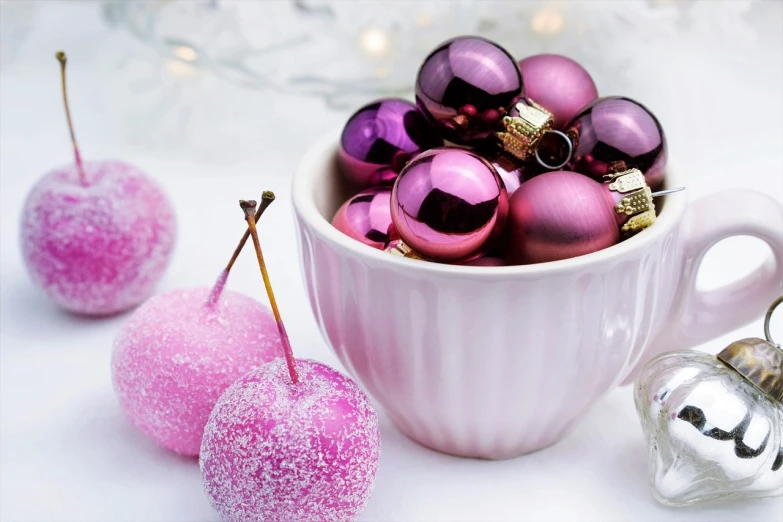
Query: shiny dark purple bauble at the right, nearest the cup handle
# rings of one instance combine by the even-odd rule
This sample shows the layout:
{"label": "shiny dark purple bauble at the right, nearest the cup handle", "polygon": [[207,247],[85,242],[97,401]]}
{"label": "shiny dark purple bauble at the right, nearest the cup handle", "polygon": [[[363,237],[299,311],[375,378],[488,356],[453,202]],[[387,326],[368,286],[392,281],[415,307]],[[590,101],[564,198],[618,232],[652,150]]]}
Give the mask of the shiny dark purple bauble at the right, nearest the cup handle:
{"label": "shiny dark purple bauble at the right, nearest the cup handle", "polygon": [[570,167],[602,179],[604,174],[637,168],[653,190],[665,176],[666,136],[647,108],[629,98],[599,98],[568,125],[574,142]]}

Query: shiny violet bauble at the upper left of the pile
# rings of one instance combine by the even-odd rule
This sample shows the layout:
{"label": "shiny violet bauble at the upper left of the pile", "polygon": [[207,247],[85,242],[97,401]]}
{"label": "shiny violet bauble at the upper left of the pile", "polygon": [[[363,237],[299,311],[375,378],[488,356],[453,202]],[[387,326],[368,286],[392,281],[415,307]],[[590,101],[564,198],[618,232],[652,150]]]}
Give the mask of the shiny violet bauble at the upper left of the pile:
{"label": "shiny violet bauble at the upper left of the pile", "polygon": [[414,104],[391,98],[365,105],[350,117],[339,157],[345,176],[368,187],[393,183],[410,158],[442,144]]}

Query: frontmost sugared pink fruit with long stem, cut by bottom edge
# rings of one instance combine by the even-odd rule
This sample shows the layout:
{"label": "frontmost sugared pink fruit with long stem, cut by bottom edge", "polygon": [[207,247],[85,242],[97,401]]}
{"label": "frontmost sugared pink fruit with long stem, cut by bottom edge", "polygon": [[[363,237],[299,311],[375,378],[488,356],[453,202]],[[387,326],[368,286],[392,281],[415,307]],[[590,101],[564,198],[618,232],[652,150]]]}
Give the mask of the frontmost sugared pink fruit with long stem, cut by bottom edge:
{"label": "frontmost sugared pink fruit with long stem, cut by bottom edge", "polygon": [[242,205],[285,360],[253,370],[215,405],[199,459],[204,488],[225,521],[354,520],[375,483],[378,416],[351,379],[294,359],[258,243],[255,202]]}

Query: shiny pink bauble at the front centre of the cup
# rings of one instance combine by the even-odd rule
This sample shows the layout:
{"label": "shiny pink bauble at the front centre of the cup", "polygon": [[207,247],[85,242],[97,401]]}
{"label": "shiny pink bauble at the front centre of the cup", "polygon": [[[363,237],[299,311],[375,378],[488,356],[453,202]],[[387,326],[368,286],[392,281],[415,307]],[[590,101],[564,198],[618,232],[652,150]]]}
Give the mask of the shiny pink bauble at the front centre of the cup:
{"label": "shiny pink bauble at the front centre of the cup", "polygon": [[441,147],[411,160],[392,191],[392,220],[416,252],[438,261],[484,253],[508,213],[508,196],[495,169],[477,154]]}

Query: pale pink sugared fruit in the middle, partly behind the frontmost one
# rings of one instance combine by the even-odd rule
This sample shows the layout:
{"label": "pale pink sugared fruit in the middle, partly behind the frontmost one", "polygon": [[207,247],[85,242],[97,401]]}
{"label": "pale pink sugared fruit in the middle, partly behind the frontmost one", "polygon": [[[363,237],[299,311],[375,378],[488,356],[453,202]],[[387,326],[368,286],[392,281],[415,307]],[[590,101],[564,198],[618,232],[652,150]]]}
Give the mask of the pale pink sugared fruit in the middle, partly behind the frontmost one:
{"label": "pale pink sugared fruit in the middle, partly behind the frontmost one", "polygon": [[112,377],[123,410],[155,442],[184,455],[198,455],[226,388],[283,355],[267,307],[230,290],[216,293],[210,299],[209,288],[189,288],[155,296],[114,341]]}

